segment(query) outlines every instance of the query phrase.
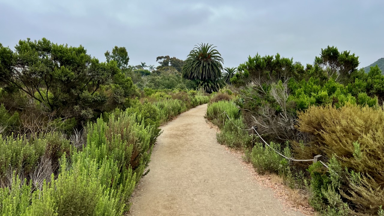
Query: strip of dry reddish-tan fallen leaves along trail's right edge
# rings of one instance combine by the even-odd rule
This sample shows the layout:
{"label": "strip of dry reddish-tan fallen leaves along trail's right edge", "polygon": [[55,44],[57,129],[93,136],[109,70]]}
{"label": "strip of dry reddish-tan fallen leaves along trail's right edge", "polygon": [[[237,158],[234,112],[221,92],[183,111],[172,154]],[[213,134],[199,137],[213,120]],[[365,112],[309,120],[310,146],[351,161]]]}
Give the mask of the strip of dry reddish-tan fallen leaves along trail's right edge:
{"label": "strip of dry reddish-tan fallen leaves along trail's right edge", "polygon": [[[303,200],[297,191],[294,191],[290,188],[287,188],[282,182],[279,182],[279,179],[276,179],[276,176],[266,174],[260,175],[253,168],[251,163],[245,162],[242,157],[244,153],[238,150],[234,150],[228,147],[225,147],[228,152],[230,152],[240,163],[243,165],[243,168],[248,169],[252,177],[260,183],[261,186],[265,186],[273,189],[273,194],[275,198],[279,199],[283,204],[284,211],[300,211],[301,213],[307,216],[315,216],[316,211],[308,204],[308,200]],[[280,179],[281,180],[281,179]],[[295,200],[293,200],[295,198]],[[301,202],[298,202],[297,200]],[[299,204],[300,203],[300,204]]]}

